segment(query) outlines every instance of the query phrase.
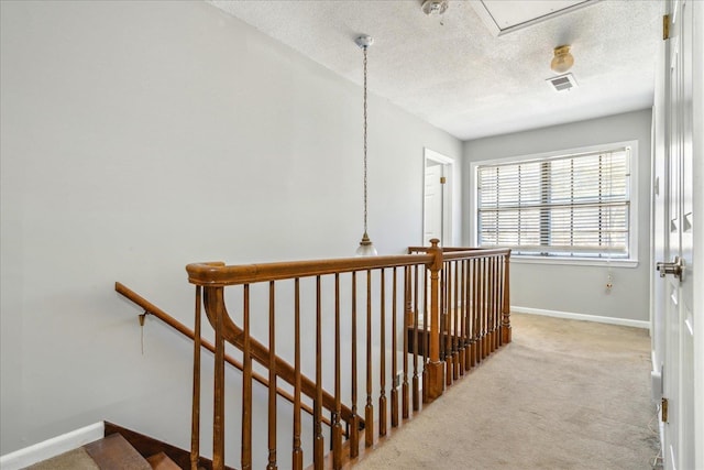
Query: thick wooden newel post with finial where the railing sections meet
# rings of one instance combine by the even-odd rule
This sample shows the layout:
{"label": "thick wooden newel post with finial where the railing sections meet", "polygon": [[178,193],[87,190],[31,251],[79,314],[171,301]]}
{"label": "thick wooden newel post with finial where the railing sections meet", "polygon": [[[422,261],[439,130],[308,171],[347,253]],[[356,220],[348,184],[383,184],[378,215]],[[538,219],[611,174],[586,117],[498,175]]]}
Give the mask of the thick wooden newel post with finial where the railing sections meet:
{"label": "thick wooden newel post with finial where the railing sections meet", "polygon": [[440,270],[442,270],[442,249],[438,247],[440,240],[430,240],[432,247],[428,253],[433,255],[428,265],[430,270],[430,337],[428,362],[428,402],[442,395],[444,385],[444,364],[440,361]]}

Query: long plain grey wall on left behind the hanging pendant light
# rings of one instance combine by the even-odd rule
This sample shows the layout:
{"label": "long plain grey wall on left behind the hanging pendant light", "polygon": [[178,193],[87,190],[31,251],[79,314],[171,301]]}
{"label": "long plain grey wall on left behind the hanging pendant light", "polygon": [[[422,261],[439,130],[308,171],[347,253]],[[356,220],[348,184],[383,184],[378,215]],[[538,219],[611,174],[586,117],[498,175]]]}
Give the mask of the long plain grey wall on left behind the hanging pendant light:
{"label": "long plain grey wall on left behind the hanging pendant light", "polygon": [[[361,88],[200,1],[0,8],[0,453],[100,419],[188,448],[190,345],[147,321],[142,354],[113,283],[191,325],[189,262],[353,254]],[[426,146],[461,159],[371,96],[381,253],[421,241]]]}

